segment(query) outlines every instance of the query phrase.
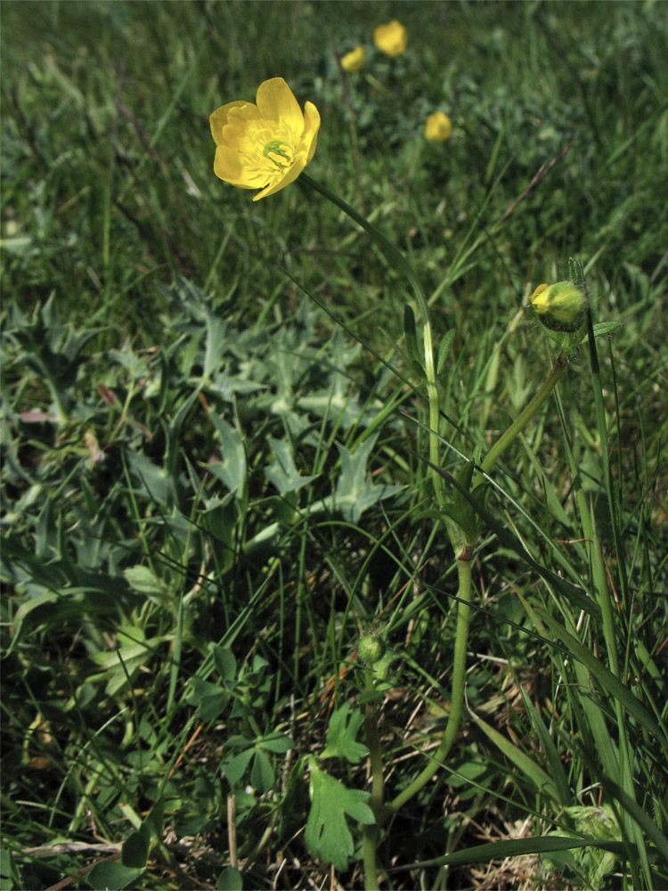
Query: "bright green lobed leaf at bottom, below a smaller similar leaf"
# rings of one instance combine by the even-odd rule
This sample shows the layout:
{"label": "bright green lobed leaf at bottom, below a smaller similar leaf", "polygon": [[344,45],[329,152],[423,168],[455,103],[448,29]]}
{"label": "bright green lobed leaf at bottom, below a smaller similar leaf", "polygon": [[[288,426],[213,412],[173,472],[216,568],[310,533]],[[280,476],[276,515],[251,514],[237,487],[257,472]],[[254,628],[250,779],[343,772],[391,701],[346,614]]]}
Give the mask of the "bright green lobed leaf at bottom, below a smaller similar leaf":
{"label": "bright green lobed leaf at bottom, below a smaller similar leaf", "polygon": [[306,822],[305,840],[314,857],[345,870],[354,852],[347,816],[361,823],[375,822],[371,807],[366,804],[371,793],[346,789],[342,782],[322,771],[314,758],[311,767],[311,810]]}

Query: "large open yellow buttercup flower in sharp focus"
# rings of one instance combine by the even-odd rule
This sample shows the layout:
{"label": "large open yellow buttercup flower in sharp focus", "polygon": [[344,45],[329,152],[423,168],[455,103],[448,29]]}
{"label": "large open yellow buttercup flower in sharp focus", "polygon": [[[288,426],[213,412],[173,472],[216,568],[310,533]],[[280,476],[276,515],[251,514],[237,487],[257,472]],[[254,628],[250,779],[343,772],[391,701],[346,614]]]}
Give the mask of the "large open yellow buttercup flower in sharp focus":
{"label": "large open yellow buttercup flower in sharp focus", "polygon": [[297,179],[314,156],[320,128],[314,103],[306,102],[302,113],[283,78],[260,84],[256,102],[228,102],[209,118],[214,173],[240,189],[261,189],[254,201]]}

